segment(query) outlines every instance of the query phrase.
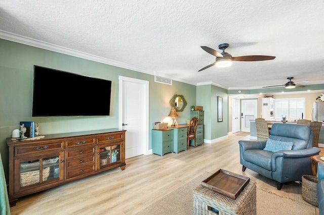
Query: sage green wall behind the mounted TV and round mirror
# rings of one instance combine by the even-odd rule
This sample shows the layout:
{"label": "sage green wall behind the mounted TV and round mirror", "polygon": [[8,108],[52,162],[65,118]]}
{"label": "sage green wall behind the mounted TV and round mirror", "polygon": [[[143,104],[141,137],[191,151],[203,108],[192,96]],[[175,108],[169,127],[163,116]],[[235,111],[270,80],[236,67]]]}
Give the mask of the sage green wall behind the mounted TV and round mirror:
{"label": "sage green wall behind the mounted TV and round mirror", "polygon": [[[186,123],[186,120],[190,118],[190,106],[196,104],[196,86],[194,85],[178,81],[173,81],[173,85],[161,84],[154,82],[152,75],[4,39],[0,39],[0,50],[0,152],[6,177],[8,177],[6,138],[11,137],[14,129],[19,128],[20,121],[37,122],[42,135],[118,128],[119,75],[149,81],[149,129],[153,128],[152,123],[160,119],[168,119],[171,109],[169,102],[174,94],[182,94],[188,103],[183,112],[178,112],[178,123]],[[111,80],[110,116],[32,118],[34,65]],[[58,87],[64,86],[58,84]],[[151,148],[151,132],[149,135]]]}

